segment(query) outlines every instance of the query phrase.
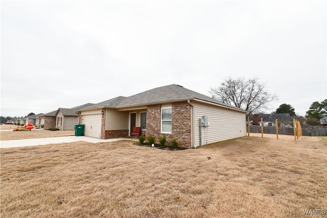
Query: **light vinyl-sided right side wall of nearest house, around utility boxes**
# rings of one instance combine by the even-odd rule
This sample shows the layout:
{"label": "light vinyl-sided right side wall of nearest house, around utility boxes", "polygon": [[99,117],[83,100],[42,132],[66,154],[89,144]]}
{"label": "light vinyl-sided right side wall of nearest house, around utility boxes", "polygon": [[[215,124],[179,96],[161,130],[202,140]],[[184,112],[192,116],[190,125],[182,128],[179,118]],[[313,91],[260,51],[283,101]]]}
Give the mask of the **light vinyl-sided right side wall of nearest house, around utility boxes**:
{"label": "light vinyl-sided right side wall of nearest house, around utility boxes", "polygon": [[194,147],[200,146],[199,118],[208,117],[209,126],[202,127],[202,146],[246,136],[245,113],[214,105],[194,102]]}

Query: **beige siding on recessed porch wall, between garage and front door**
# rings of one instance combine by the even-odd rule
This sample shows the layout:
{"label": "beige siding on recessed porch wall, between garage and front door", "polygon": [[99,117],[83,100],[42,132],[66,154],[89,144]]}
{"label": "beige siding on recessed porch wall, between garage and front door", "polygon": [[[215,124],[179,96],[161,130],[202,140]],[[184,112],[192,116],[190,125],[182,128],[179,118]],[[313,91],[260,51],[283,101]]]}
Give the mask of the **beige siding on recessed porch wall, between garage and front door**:
{"label": "beige siding on recessed porch wall, between garage and front door", "polygon": [[[106,110],[106,130],[126,130],[129,123],[129,112]],[[137,120],[137,119],[136,119]]]}

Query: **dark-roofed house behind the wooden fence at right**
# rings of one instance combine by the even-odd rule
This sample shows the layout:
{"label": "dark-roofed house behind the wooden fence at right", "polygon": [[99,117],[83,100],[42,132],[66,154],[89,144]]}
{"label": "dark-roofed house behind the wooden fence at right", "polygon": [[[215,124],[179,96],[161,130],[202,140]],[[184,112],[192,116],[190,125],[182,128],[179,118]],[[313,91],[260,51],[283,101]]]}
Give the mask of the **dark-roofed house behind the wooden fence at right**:
{"label": "dark-roofed house behind the wooden fence at right", "polygon": [[255,123],[255,116],[258,116],[258,123],[261,126],[261,118],[263,120],[264,127],[275,127],[276,119],[278,120],[278,126],[281,127],[293,127],[293,119],[297,119],[297,116],[291,116],[289,113],[274,113],[274,114],[250,114],[250,125]]}

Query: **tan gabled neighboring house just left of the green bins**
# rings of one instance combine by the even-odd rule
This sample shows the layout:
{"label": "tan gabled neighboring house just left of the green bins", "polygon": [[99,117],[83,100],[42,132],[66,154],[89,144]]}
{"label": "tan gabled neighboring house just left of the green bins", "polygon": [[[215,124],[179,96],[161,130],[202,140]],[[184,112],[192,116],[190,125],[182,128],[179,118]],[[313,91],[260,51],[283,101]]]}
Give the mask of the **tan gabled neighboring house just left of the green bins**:
{"label": "tan gabled neighboring house just left of the green bins", "polygon": [[56,128],[59,130],[74,130],[75,124],[78,124],[78,115],[76,110],[80,110],[91,105],[94,104],[87,103],[74,108],[58,108],[57,112],[55,113]]}

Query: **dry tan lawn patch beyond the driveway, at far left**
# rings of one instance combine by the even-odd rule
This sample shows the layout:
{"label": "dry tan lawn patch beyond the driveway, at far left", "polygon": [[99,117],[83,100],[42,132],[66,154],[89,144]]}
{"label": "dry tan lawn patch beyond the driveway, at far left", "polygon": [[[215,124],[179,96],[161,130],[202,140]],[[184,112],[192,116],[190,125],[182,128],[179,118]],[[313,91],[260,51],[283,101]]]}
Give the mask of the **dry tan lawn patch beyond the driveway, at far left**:
{"label": "dry tan lawn patch beyond the driveway, at far left", "polygon": [[[75,130],[65,131],[49,131],[49,130],[35,130],[31,131],[19,131],[14,132],[13,130],[18,127],[15,125],[1,125],[0,140],[12,140],[12,139],[26,139],[26,138],[48,138],[48,137],[59,137],[59,136],[70,136],[75,135]],[[9,131],[12,130],[12,131]]]}

